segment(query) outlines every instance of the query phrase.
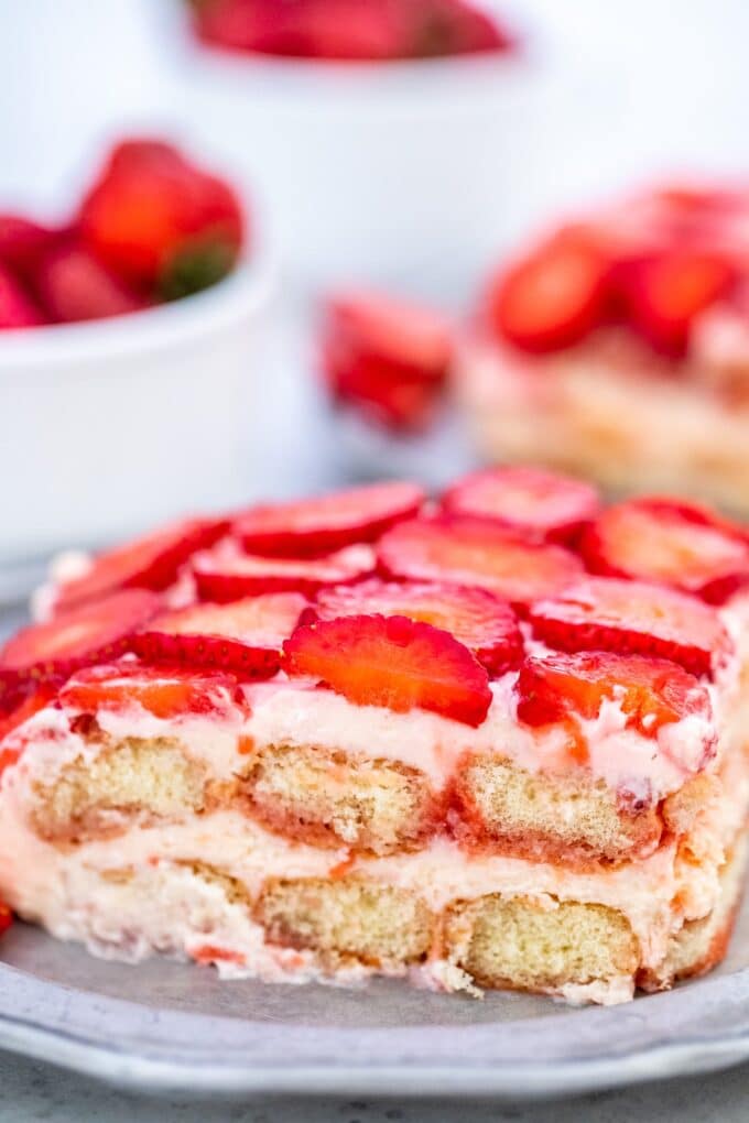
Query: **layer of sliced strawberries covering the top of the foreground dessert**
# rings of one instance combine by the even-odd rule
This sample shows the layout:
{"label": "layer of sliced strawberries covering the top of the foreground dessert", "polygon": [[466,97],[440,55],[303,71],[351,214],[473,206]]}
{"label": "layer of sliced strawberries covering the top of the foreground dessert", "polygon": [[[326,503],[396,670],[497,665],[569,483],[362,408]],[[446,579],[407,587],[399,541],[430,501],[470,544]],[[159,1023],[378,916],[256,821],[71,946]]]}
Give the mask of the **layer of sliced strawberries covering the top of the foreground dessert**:
{"label": "layer of sliced strawberries covering the top of the foreground dessert", "polygon": [[[6,725],[72,673],[91,705],[143,695],[179,710],[191,676],[281,669],[357,704],[476,725],[490,678],[522,665],[529,724],[613,697],[652,734],[704,707],[698,679],[732,651],[715,603],[749,585],[743,530],[663,499],[601,510],[587,485],[530,469],[468,476],[441,510],[423,502],[412,484],[355,489],[192,520],[94,558],[53,620],[0,650]],[[250,544],[275,556],[243,553]],[[527,656],[524,636],[551,651]]]}

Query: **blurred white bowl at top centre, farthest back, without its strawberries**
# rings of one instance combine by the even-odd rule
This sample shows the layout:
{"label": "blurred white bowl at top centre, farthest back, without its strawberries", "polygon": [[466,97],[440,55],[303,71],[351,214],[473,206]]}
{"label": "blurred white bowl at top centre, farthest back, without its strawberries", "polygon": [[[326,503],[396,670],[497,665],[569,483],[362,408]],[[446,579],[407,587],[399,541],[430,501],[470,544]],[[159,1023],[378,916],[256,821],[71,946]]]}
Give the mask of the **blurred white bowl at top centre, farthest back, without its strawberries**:
{"label": "blurred white bowl at top centre, farthest back, without its strawberries", "polygon": [[[177,103],[264,198],[290,275],[451,298],[496,259],[531,155],[533,52],[326,63],[202,47],[155,6]],[[522,36],[522,29],[521,29]]]}

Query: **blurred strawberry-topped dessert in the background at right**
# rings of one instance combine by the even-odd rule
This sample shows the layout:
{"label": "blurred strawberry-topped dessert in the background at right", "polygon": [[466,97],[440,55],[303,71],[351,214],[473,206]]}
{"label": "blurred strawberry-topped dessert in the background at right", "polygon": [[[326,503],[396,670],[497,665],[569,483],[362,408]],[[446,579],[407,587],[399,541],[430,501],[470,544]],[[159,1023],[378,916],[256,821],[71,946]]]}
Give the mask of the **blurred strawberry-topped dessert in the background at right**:
{"label": "blurred strawberry-topped dessert in the background at right", "polygon": [[749,512],[749,185],[673,185],[494,279],[457,392],[484,451]]}

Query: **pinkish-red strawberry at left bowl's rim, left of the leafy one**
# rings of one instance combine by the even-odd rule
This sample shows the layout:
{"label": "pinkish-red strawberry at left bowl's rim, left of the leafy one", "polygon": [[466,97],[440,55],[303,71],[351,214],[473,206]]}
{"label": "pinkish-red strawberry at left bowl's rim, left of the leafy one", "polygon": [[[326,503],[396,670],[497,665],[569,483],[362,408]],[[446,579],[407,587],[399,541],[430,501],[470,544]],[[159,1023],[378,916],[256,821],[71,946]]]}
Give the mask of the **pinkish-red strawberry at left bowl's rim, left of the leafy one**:
{"label": "pinkish-red strawberry at left bowl's rim, left of the leafy one", "polygon": [[75,245],[48,254],[36,270],[35,285],[51,319],[60,323],[126,316],[147,307],[92,254]]}

